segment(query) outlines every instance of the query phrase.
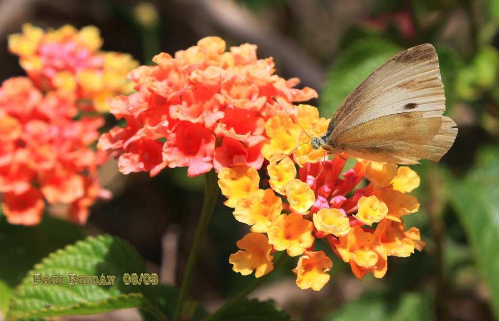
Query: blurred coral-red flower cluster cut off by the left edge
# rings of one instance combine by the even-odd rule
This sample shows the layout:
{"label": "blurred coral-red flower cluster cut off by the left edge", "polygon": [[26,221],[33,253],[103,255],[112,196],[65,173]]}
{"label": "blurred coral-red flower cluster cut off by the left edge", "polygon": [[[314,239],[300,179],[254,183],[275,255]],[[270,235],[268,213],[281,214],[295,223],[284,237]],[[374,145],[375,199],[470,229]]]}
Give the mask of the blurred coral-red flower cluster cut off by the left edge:
{"label": "blurred coral-red flower cluster cut off by the left edge", "polygon": [[26,77],[2,83],[0,193],[8,222],[39,223],[46,201],[67,204],[68,217],[82,224],[101,194],[96,169],[105,155],[89,145],[104,120],[73,120],[75,99],[63,90],[43,95]]}

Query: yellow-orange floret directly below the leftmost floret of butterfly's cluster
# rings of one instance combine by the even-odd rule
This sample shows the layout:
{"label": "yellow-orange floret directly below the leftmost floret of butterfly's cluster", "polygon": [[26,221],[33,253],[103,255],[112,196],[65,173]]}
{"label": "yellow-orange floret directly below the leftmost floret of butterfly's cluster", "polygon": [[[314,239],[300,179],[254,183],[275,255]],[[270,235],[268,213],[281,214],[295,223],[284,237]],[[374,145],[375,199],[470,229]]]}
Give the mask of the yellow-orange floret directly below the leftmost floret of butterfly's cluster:
{"label": "yellow-orange floret directly below the leftmost floret of butterfly's cluster", "polygon": [[234,217],[252,225],[251,232],[265,233],[281,211],[282,201],[271,189],[257,190],[237,202]]}

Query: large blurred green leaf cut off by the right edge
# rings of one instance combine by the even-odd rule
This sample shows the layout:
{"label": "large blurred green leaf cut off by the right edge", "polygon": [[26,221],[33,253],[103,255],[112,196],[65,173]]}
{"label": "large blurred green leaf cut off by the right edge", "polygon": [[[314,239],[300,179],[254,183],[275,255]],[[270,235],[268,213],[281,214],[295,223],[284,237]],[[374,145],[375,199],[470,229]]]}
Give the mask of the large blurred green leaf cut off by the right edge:
{"label": "large blurred green leaf cut off by the right edge", "polygon": [[499,150],[487,148],[467,177],[447,175],[447,188],[472,245],[478,268],[489,287],[499,319]]}

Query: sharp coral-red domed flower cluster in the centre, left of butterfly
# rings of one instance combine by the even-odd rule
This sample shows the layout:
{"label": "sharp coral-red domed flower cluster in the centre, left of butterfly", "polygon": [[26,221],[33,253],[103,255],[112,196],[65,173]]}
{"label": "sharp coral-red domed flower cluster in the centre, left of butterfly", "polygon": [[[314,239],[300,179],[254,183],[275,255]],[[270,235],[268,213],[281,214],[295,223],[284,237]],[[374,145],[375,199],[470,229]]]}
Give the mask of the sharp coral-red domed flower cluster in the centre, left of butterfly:
{"label": "sharp coral-red domed flower cluster in the centre, left of butterfly", "polygon": [[239,165],[259,169],[265,123],[285,113],[272,96],[291,113],[296,108],[290,102],[317,97],[313,89],[293,88],[298,79],[273,74],[272,58],[258,59],[253,44],[226,51],[223,39],[206,37],[153,60],[156,66],[130,73],[135,93],[110,100],[111,113],[126,125],[99,139],[100,149],[119,156],[123,174],[154,176],[166,167],[188,167],[189,176]]}

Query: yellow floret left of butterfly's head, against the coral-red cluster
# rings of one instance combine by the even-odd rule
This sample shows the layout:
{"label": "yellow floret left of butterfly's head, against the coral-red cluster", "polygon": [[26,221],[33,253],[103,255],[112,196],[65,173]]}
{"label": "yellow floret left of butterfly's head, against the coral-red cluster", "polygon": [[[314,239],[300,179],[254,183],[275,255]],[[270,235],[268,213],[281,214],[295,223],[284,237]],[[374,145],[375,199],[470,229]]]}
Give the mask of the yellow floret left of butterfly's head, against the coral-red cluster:
{"label": "yellow floret left of butterfly's head, against the coral-red cluster", "polygon": [[276,115],[270,117],[265,123],[265,132],[269,139],[261,148],[265,159],[274,156],[287,155],[298,146],[300,127],[293,123],[289,116]]}

